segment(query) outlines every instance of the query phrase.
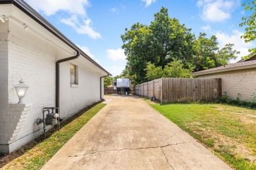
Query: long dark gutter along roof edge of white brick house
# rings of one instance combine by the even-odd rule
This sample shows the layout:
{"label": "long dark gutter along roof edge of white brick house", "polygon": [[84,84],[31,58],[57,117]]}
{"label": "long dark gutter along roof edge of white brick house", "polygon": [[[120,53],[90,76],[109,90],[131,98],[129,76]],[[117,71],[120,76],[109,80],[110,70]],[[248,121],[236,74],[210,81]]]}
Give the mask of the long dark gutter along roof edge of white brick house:
{"label": "long dark gutter along roof edge of white brick house", "polygon": [[30,18],[35,20],[35,22],[37,22],[42,27],[47,29],[47,31],[51,32],[54,36],[56,36],[58,39],[60,39],[60,41],[64,42],[68,46],[70,46],[70,48],[72,48],[75,52],[79,52],[79,54],[81,56],[83,56],[88,61],[93,63],[93,65],[95,65],[96,67],[98,67],[99,69],[104,71],[104,73],[111,75],[110,73],[108,73],[108,71],[106,71],[98,63],[96,63],[95,60],[93,60],[91,57],[89,57],[87,54],[85,54],[85,52],[83,52],[83,50],[81,50],[78,46],[76,46],[74,44],[74,42],[70,41],[70,39],[68,39],[60,31],[58,31],[58,29],[56,29],[56,27],[54,27],[50,22],[45,20],[45,18],[43,18],[43,16],[41,16],[38,12],[36,12],[32,7],[30,7],[30,5],[28,5],[23,0],[0,0],[0,4],[12,4],[12,5],[16,6],[18,9],[22,10],[25,14],[30,16]]}

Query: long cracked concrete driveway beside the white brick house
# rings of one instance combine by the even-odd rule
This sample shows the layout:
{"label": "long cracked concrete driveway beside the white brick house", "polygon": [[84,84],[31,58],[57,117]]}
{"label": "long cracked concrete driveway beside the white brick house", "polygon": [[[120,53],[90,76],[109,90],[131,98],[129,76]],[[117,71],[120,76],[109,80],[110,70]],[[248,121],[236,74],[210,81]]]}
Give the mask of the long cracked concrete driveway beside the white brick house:
{"label": "long cracked concrete driveway beside the white brick house", "polygon": [[142,99],[106,99],[42,169],[230,169]]}

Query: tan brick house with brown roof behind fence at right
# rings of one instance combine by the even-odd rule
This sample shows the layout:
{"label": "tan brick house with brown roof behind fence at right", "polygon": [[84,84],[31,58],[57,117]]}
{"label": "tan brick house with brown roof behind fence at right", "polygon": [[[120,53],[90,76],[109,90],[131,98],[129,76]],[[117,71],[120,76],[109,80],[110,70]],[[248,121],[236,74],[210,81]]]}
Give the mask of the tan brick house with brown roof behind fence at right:
{"label": "tan brick house with brown roof behind fence at right", "polygon": [[222,92],[230,99],[254,101],[256,99],[256,57],[237,63],[191,73],[196,78],[221,78]]}

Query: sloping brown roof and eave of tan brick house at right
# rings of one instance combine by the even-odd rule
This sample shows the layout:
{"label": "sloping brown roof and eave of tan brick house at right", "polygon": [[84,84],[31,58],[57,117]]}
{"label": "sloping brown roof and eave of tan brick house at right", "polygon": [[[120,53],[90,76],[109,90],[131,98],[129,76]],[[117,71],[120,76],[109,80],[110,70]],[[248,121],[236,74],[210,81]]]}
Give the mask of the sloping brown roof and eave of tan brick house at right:
{"label": "sloping brown roof and eave of tan brick house at right", "polygon": [[192,76],[208,75],[208,74],[220,73],[220,72],[224,72],[224,71],[234,71],[234,70],[251,69],[251,68],[256,68],[256,60],[242,61],[239,63],[223,65],[221,67],[215,67],[212,69],[207,69],[207,70],[203,70],[203,71],[190,73],[190,75],[192,75]]}

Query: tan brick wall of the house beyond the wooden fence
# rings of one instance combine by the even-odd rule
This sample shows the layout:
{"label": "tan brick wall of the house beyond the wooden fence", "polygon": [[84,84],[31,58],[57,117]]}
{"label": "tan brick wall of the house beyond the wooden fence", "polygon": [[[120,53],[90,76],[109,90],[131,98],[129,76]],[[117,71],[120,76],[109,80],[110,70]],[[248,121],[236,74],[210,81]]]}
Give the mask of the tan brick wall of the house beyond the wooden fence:
{"label": "tan brick wall of the house beyond the wooden fence", "polygon": [[222,92],[226,93],[230,99],[237,99],[237,97],[243,101],[256,99],[256,68],[201,75],[198,78],[221,78]]}

